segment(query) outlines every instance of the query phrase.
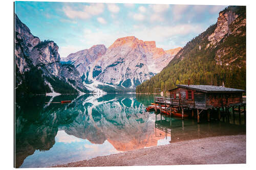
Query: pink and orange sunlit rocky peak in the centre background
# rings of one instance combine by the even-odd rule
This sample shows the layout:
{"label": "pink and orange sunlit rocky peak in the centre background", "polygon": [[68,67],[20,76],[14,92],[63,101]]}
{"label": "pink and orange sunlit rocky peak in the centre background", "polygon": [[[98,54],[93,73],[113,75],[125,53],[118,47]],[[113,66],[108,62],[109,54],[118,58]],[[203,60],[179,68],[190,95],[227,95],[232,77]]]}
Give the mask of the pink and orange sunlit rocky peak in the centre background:
{"label": "pink and orange sunlit rocky peak in the centre background", "polygon": [[85,83],[96,81],[134,89],[160,72],[178,51],[179,48],[166,53],[156,47],[155,41],[130,36],[118,38],[108,49],[104,45],[94,45],[61,61],[74,64]]}

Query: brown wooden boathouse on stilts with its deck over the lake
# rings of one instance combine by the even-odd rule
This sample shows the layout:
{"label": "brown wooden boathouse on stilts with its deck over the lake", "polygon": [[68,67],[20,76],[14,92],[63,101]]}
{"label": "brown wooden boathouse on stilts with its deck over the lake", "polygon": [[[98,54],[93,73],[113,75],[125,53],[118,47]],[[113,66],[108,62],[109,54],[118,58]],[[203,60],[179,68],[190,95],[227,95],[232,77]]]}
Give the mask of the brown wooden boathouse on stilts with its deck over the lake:
{"label": "brown wooden boathouse on stilts with its deck over the lake", "polygon": [[242,98],[245,90],[210,85],[178,84],[176,86],[177,88],[168,90],[169,98],[155,97],[155,110],[170,115],[180,114],[182,119],[194,117],[196,111],[198,123],[202,113],[207,113],[209,122],[210,115],[214,113],[218,114],[218,119],[221,119],[221,114],[229,115],[231,107],[233,114],[235,110],[239,112],[239,117],[243,107],[242,112],[245,115],[246,104]]}

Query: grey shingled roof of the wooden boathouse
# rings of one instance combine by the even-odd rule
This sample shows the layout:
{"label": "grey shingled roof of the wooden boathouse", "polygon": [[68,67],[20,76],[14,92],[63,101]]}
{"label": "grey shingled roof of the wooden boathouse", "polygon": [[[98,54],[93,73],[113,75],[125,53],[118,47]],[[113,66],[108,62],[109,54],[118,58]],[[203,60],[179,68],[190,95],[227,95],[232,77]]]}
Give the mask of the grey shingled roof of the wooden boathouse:
{"label": "grey shingled roof of the wooden boathouse", "polygon": [[222,86],[209,86],[209,85],[189,85],[188,86],[183,84],[177,84],[176,86],[182,87],[182,88],[188,88],[192,90],[203,91],[203,92],[244,92],[245,91],[241,89],[227,88]]}

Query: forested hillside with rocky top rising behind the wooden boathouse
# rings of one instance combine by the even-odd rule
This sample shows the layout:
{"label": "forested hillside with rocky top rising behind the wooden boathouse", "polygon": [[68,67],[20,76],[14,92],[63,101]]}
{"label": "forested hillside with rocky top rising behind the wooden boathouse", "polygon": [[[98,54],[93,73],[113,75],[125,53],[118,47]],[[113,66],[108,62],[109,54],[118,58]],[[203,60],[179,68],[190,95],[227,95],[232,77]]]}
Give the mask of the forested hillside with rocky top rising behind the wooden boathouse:
{"label": "forested hillside with rocky top rising behind the wooden boathouse", "polygon": [[136,87],[137,93],[167,91],[176,84],[246,88],[246,8],[229,6],[218,21],[190,40],[156,76]]}

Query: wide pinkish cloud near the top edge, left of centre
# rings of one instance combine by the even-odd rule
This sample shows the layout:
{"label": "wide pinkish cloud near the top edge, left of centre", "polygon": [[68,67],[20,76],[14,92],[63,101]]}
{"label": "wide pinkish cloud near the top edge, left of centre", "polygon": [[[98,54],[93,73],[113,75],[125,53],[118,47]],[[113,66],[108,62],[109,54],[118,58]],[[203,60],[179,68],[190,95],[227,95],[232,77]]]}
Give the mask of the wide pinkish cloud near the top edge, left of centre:
{"label": "wide pinkish cloud near the top edge, left of centre", "polygon": [[74,19],[88,19],[93,15],[99,15],[104,11],[104,4],[90,4],[83,6],[82,10],[76,10],[70,6],[63,7],[63,12],[67,17]]}

